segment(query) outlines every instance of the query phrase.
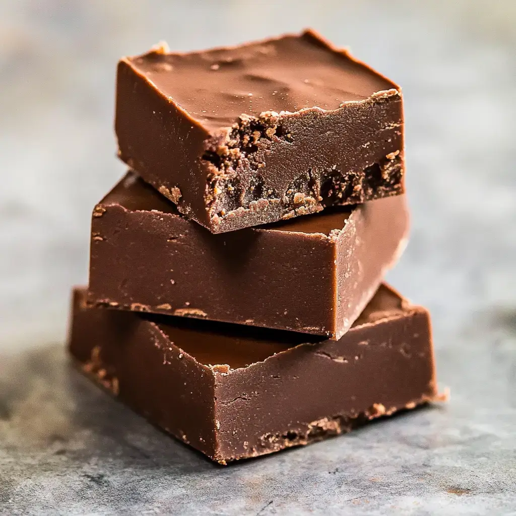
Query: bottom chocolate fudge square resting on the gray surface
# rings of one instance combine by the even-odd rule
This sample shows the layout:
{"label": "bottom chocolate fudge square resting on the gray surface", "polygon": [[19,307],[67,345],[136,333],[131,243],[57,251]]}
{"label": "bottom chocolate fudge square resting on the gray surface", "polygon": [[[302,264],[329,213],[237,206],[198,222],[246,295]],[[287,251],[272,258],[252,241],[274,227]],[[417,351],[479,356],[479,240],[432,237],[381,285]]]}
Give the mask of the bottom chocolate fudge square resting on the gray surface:
{"label": "bottom chocolate fudge square resting on the gray surface", "polygon": [[83,372],[226,464],[347,432],[436,398],[428,312],[382,284],[338,341],[184,317],[88,308],[69,347]]}

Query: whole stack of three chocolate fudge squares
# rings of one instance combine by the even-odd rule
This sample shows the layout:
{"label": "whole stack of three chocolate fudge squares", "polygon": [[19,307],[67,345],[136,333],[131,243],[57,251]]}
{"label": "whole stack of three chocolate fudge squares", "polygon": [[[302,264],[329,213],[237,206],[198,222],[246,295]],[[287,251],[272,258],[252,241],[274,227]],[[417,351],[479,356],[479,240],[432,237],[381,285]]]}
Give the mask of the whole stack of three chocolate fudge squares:
{"label": "whole stack of three chocolate fudge squares", "polygon": [[221,464],[437,397],[404,250],[400,88],[311,30],[118,65],[129,170],[93,209],[69,348]]}

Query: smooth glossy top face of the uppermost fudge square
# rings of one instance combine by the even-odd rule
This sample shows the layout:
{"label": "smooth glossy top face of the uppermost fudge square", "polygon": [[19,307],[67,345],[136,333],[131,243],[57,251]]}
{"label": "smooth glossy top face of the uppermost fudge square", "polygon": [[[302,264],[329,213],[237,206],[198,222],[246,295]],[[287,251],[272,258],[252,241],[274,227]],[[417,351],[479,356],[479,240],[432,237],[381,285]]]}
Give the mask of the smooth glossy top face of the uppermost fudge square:
{"label": "smooth glossy top face of the uppermost fudge square", "polygon": [[396,85],[312,31],[241,46],[128,60],[163,95],[214,130],[263,111],[337,109]]}

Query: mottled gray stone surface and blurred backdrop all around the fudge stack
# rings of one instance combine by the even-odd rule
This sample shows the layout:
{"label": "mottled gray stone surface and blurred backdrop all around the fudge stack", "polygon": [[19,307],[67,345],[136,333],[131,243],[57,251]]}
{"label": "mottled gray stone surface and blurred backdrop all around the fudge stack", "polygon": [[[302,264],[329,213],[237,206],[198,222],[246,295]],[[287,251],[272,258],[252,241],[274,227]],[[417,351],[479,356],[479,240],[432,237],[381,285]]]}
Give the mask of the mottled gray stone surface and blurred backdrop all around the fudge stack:
{"label": "mottled gray stone surface and blurred backdrop all around the fudge stack", "polygon": [[[0,4],[3,514],[516,514],[516,4]],[[188,15],[189,18],[184,17]],[[62,343],[114,158],[115,61],[311,25],[404,86],[411,243],[447,405],[218,467],[95,389]]]}

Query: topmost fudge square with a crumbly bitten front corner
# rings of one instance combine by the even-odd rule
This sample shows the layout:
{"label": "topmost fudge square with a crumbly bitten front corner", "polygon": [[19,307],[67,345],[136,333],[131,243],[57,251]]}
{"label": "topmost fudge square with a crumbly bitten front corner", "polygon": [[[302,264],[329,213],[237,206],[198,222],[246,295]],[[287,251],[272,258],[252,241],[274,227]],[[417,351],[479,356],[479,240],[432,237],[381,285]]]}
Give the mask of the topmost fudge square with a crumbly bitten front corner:
{"label": "topmost fudge square with a crumbly bitten front corner", "polygon": [[212,233],[404,192],[400,88],[312,30],[118,65],[119,156]]}

